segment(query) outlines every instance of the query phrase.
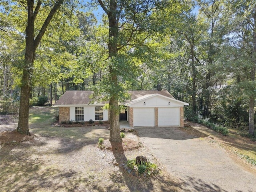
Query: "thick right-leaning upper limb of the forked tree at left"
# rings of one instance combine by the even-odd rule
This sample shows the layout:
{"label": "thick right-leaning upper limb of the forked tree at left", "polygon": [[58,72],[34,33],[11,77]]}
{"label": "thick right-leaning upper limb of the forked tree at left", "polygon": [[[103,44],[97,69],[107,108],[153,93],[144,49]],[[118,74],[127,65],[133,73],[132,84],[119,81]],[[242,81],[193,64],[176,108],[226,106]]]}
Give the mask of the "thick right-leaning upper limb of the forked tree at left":
{"label": "thick right-leaning upper limb of the forked tree at left", "polygon": [[54,14],[56,13],[56,11],[58,10],[58,8],[60,7],[60,5],[64,2],[64,0],[58,0],[54,7],[52,8],[52,10],[50,11],[50,13],[48,14],[46,20],[44,21],[44,24],[42,25],[42,28],[40,30],[40,32],[38,33],[36,39],[34,40],[34,48],[36,49],[39,42],[41,41],[45,31],[46,31],[46,28],[48,26],[48,24],[50,23],[50,21],[52,20],[52,17],[54,16]]}

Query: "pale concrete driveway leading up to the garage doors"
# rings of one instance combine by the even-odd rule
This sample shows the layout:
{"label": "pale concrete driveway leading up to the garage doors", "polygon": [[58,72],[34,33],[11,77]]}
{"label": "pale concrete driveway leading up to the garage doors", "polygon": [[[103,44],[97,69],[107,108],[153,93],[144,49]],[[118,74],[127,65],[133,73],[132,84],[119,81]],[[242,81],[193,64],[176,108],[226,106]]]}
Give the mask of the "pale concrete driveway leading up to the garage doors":
{"label": "pale concrete driveway leading up to the garage doors", "polygon": [[256,173],[220,148],[175,127],[135,128],[141,141],[178,176],[186,192],[256,192]]}

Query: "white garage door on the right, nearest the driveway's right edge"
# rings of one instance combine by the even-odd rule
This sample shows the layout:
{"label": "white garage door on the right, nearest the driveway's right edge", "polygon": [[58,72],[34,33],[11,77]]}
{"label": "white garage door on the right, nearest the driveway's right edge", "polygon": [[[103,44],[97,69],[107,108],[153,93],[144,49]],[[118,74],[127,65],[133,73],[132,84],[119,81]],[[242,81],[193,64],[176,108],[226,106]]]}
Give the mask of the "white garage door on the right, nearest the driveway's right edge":
{"label": "white garage door on the right, nearest the driveway's right edge", "polygon": [[158,126],[180,126],[180,108],[158,108]]}

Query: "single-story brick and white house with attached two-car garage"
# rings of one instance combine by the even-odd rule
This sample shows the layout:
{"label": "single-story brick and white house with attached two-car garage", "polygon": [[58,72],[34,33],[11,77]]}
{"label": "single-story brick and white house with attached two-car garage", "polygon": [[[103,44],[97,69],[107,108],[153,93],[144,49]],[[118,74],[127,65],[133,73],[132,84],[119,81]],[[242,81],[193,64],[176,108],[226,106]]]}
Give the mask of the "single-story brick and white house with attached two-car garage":
{"label": "single-story brick and white house with attached two-car garage", "polygon": [[[66,91],[54,106],[59,107],[62,121],[108,121],[109,113],[103,107],[108,102],[91,104],[92,91]],[[131,99],[120,105],[120,121],[131,127],[184,126],[184,105],[167,90],[128,91]]]}

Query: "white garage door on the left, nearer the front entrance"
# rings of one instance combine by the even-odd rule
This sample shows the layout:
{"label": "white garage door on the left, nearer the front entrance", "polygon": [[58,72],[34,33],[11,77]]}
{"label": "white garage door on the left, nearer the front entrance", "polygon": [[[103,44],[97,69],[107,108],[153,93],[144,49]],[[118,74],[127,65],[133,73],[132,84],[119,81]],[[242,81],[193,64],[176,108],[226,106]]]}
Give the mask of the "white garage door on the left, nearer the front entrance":
{"label": "white garage door on the left, nearer the front entrance", "polygon": [[154,108],[133,108],[133,126],[147,127],[155,126]]}

